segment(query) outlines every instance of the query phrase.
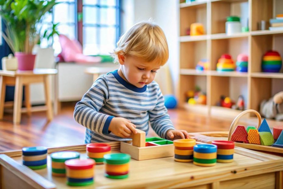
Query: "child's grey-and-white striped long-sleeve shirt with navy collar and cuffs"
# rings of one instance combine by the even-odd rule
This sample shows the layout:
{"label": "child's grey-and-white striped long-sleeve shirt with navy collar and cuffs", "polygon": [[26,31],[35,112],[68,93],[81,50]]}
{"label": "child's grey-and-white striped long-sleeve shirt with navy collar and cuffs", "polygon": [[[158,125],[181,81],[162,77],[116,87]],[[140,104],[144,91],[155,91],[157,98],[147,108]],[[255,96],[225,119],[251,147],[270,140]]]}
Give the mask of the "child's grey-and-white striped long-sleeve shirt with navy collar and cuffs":
{"label": "child's grey-and-white striped long-sleeve shirt with navy collar and cuffs", "polygon": [[129,119],[137,129],[152,129],[167,138],[173,124],[164,106],[159,85],[153,81],[142,88],[126,82],[117,70],[100,76],[75,106],[75,120],[86,127],[85,143],[125,141],[108,132],[113,117]]}

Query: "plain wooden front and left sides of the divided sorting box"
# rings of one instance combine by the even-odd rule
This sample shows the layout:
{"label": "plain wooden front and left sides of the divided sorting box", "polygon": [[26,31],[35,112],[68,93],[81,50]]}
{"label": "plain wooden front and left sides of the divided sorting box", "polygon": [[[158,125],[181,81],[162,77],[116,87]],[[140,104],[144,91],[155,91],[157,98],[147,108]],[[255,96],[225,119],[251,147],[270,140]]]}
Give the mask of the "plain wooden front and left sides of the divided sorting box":
{"label": "plain wooden front and left sides of the divided sorting box", "polygon": [[174,156],[174,145],[172,143],[157,146],[137,147],[126,142],[121,142],[120,151],[131,155],[131,158],[136,160],[165,158]]}

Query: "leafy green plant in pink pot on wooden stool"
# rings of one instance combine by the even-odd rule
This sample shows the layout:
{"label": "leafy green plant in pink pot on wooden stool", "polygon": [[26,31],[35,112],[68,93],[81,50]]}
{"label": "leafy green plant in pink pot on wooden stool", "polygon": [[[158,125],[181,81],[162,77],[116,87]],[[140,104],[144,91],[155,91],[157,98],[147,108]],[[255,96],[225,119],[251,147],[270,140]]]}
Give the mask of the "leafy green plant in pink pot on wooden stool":
{"label": "leafy green plant in pink pot on wooden stool", "polygon": [[0,16],[7,26],[3,37],[18,59],[19,70],[33,70],[37,25],[56,4],[55,0],[0,0]]}

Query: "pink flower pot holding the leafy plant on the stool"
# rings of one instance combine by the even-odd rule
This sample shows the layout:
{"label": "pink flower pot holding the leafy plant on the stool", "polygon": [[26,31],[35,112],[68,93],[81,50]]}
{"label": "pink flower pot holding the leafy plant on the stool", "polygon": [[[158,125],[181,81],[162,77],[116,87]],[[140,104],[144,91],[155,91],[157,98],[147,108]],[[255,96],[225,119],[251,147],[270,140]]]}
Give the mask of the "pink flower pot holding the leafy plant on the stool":
{"label": "pink flower pot holding the leafy plant on the stool", "polygon": [[33,70],[35,56],[24,52],[15,52],[15,57],[18,59],[18,70]]}

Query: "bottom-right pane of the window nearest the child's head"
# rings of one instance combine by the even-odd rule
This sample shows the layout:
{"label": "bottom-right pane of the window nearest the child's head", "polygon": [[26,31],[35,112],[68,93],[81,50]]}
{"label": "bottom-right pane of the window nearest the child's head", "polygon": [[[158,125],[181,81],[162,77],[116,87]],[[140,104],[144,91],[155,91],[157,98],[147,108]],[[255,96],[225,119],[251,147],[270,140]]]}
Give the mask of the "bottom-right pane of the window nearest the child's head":
{"label": "bottom-right pane of the window nearest the child's head", "polygon": [[100,54],[109,55],[115,48],[116,29],[114,27],[100,28]]}

